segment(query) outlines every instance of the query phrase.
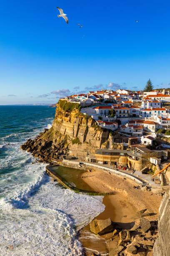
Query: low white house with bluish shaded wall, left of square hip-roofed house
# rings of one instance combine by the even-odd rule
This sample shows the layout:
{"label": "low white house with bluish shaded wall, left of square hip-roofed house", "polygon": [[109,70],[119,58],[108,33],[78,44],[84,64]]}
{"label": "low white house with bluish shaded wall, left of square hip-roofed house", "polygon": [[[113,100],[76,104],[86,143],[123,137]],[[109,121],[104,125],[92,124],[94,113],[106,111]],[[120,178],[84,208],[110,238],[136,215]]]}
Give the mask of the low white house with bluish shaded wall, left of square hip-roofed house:
{"label": "low white house with bluish shaded wall, left of square hip-roofed house", "polygon": [[133,125],[128,123],[126,125],[120,125],[120,132],[140,137],[143,136],[143,125]]}

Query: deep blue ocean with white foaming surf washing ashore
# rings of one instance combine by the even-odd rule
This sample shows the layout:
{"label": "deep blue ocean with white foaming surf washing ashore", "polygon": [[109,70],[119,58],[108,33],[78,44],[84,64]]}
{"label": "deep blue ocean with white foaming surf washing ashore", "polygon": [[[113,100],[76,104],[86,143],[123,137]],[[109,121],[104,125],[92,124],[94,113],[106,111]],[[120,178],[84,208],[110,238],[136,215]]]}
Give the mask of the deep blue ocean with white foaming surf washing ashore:
{"label": "deep blue ocean with white foaming surf washing ashore", "polygon": [[20,145],[50,128],[55,108],[0,106],[0,256],[77,256],[77,231],[105,206],[62,189]]}

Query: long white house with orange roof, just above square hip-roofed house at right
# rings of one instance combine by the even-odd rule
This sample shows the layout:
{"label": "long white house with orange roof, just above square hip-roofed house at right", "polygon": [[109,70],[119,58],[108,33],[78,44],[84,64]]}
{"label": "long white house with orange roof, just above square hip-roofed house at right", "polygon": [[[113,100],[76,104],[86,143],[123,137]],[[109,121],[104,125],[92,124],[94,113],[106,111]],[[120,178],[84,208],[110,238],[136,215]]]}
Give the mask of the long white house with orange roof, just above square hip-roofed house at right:
{"label": "long white house with orange roof, just above square hip-roofed house at right", "polygon": [[168,114],[168,110],[166,108],[145,108],[141,110],[141,116],[142,118],[146,117],[156,117],[156,116],[162,116],[166,117]]}

